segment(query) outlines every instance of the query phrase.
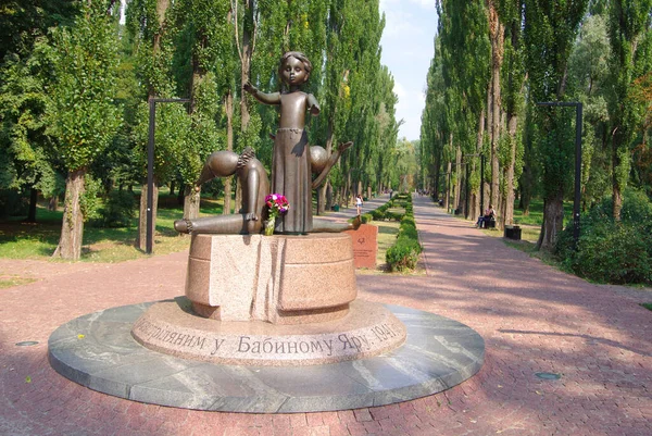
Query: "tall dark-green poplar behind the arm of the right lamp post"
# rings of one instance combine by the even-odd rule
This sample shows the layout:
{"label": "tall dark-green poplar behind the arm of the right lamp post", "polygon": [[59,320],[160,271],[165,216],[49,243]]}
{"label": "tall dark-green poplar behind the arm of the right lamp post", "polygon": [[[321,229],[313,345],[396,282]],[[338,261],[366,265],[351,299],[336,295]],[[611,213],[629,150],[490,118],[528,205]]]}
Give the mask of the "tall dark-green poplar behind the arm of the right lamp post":
{"label": "tall dark-green poplar behind the arm of the right lamp post", "polygon": [[[564,101],[568,58],[588,0],[526,0],[524,42],[532,103]],[[543,182],[543,223],[537,248],[550,250],[563,228],[563,201],[570,185],[573,119],[563,108],[536,111]]]}

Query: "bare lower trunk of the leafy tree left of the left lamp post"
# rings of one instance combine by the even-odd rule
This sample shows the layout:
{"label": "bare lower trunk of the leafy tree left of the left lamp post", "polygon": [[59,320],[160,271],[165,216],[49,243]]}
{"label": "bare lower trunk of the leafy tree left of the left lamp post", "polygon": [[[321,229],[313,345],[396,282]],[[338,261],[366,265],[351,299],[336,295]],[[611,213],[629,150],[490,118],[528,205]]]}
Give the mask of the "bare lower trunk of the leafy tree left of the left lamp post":
{"label": "bare lower trunk of the leafy tree left of the left lamp post", "polygon": [[61,238],[52,254],[53,258],[78,260],[82,257],[82,238],[84,236],[82,195],[84,194],[85,174],[86,169],[68,172],[65,179],[65,204],[63,207]]}

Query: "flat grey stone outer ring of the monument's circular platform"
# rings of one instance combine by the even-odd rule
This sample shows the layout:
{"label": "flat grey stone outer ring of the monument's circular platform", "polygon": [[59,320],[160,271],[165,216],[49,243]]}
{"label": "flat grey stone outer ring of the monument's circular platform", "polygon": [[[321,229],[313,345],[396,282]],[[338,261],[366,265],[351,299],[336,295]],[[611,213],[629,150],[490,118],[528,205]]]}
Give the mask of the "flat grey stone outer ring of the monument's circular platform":
{"label": "flat grey stone outer ring of the monument's circular platform", "polygon": [[[173,300],[170,300],[173,301]],[[437,394],[473,376],[485,341],[468,326],[386,306],[405,344],[374,358],[310,366],[238,366],[185,360],[139,345],[134,323],[152,303],[77,317],[48,341],[52,368],[90,389],[187,409],[291,413],[358,409]]]}

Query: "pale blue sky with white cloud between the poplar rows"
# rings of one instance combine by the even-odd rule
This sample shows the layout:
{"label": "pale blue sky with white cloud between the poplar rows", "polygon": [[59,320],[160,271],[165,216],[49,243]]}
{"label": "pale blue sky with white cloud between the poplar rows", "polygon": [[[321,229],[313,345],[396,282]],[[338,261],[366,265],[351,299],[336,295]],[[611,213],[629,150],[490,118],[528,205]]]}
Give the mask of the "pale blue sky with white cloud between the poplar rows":
{"label": "pale blue sky with white cloud between the poplar rows", "polygon": [[394,78],[397,120],[404,121],[399,138],[415,140],[421,135],[426,76],[435,52],[435,0],[380,0],[380,10],[386,20],[380,62]]}

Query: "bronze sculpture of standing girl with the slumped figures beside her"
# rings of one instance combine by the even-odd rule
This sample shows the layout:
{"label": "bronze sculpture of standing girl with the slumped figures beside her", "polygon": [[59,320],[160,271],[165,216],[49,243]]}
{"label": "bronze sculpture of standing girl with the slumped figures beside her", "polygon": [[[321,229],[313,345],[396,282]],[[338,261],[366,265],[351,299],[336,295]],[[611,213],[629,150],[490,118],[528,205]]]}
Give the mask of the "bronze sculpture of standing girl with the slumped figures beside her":
{"label": "bronze sculpture of standing girl with the slumped figures beside her", "polygon": [[[284,195],[290,204],[285,215],[276,219],[275,233],[306,234],[310,232],[343,232],[358,228],[360,219],[349,224],[335,224],[324,220],[313,221],[312,190],[317,188],[330,172],[341,153],[353,142],[338,145],[330,155],[319,146],[308,145],[305,113],[319,114],[319,105],[312,94],[300,90],[310,77],[312,64],[298,51],[283,55],[278,74],[286,89],[265,94],[247,83],[244,90],[262,103],[280,107],[280,121],[274,137],[272,157],[272,189]],[[312,180],[312,174],[318,174]],[[251,234],[260,233],[264,198],[269,194],[269,183],[262,163],[253,150],[242,155],[233,151],[217,151],[209,158],[196,185],[199,187],[213,177],[237,174],[242,185],[243,204],[238,214],[178,220],[175,228],[180,233]]]}

